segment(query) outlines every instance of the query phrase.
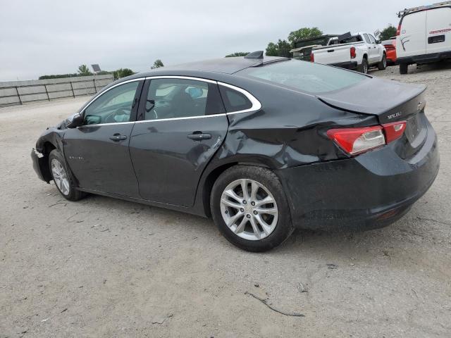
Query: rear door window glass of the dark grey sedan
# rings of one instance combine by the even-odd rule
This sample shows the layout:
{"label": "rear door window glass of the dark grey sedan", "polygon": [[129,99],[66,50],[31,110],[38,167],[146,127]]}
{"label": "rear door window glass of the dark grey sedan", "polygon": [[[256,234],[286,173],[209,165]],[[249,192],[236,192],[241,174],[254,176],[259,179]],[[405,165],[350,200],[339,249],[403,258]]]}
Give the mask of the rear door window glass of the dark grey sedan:
{"label": "rear door window glass of the dark grey sedan", "polygon": [[154,79],[147,92],[144,120],[190,118],[224,113],[217,84],[200,80]]}

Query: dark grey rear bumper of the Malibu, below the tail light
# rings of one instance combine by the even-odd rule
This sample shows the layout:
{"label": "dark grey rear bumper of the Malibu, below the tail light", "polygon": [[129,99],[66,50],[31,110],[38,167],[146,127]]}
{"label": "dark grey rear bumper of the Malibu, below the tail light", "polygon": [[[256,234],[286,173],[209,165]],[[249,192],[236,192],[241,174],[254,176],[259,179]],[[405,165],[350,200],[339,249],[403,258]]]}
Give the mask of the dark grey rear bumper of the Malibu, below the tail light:
{"label": "dark grey rear bumper of the Malibu, below the tail light", "polygon": [[292,221],[304,229],[384,227],[407,213],[431,187],[440,158],[428,134],[412,158],[388,145],[355,158],[278,170],[290,200]]}

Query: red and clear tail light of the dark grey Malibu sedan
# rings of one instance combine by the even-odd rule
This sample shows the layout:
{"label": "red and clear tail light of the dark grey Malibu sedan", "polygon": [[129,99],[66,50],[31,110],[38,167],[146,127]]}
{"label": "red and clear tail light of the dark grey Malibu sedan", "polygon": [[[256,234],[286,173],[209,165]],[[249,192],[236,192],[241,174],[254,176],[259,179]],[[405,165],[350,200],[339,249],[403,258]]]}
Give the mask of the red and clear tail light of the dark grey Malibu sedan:
{"label": "red and clear tail light of the dark grey Malibu sedan", "polygon": [[406,121],[375,125],[373,127],[330,129],[327,136],[350,155],[362,154],[399,139]]}

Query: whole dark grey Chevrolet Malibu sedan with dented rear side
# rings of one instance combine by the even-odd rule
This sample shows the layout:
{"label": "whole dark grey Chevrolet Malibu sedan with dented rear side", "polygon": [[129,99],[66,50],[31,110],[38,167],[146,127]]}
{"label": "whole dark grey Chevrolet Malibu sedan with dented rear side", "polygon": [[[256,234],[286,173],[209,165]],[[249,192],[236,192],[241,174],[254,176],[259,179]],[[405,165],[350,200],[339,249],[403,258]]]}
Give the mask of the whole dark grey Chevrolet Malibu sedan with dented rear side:
{"label": "whole dark grey Chevrolet Malibu sedan with dented rear side", "polygon": [[304,229],[395,222],[435,180],[425,87],[264,57],[113,82],[37,140],[32,163],[69,201],[100,194],[212,217],[266,251]]}

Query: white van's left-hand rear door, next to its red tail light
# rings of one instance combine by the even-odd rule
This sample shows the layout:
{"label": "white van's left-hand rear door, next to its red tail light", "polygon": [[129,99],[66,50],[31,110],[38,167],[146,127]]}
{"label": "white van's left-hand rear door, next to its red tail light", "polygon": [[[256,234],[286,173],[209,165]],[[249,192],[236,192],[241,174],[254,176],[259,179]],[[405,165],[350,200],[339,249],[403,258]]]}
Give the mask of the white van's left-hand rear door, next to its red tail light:
{"label": "white van's left-hand rear door, next to its red tail light", "polygon": [[398,58],[426,54],[426,13],[420,11],[401,19],[400,35],[396,37]]}

